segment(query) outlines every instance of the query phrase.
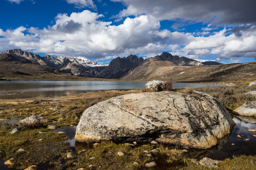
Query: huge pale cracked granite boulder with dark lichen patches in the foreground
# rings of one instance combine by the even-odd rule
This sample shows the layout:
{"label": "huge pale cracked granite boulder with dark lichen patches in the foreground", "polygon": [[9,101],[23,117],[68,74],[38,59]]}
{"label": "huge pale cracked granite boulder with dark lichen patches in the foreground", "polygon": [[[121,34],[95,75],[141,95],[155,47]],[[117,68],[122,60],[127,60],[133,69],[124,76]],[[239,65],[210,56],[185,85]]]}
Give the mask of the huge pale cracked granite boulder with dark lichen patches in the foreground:
{"label": "huge pale cracked granite boulder with dark lichen patches in the foreground", "polygon": [[210,148],[235,122],[212,96],[195,92],[132,93],[86,109],[76,128],[79,142],[155,140]]}

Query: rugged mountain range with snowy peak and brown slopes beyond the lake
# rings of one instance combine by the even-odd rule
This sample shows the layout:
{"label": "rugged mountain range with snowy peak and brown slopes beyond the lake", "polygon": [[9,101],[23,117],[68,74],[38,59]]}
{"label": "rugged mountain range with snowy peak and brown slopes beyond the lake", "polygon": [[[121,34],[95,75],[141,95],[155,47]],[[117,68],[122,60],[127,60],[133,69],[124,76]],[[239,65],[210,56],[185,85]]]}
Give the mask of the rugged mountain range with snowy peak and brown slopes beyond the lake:
{"label": "rugged mountain range with snowy peak and brown slopes beyond the lake", "polygon": [[[152,79],[201,82],[231,79],[235,74],[253,79],[256,74],[256,62],[221,64],[215,61],[199,62],[186,57],[179,57],[168,52],[148,59],[129,55],[113,59],[108,66],[84,57],[44,57],[20,49],[0,53],[0,77],[15,73],[23,76],[31,74],[62,74],[79,77],[115,78],[127,81],[148,81]],[[11,68],[7,66],[12,66]],[[6,68],[3,70],[3,68]],[[14,75],[15,76],[15,75]]]}

